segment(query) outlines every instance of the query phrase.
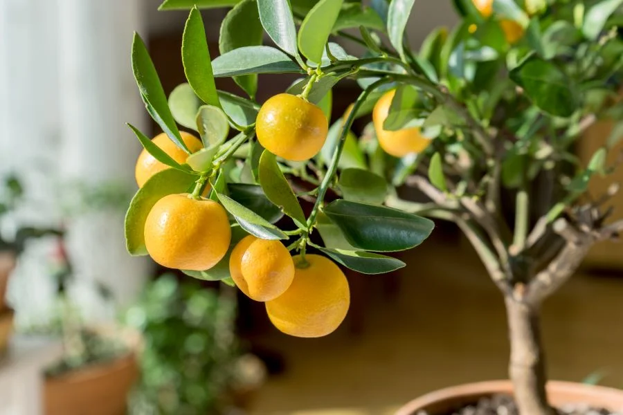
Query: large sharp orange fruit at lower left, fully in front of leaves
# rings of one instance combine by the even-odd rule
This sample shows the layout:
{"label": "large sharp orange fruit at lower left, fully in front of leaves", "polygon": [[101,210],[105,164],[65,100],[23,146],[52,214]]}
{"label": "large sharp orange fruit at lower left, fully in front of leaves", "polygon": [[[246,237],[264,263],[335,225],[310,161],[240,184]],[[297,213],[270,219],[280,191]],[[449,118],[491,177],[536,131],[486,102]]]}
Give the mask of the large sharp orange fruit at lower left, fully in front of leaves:
{"label": "large sharp orange fruit at lower left, fully in front of leaves", "polygon": [[227,253],[231,228],[224,208],[209,199],[170,194],[156,202],[145,221],[145,247],[158,264],[208,270]]}

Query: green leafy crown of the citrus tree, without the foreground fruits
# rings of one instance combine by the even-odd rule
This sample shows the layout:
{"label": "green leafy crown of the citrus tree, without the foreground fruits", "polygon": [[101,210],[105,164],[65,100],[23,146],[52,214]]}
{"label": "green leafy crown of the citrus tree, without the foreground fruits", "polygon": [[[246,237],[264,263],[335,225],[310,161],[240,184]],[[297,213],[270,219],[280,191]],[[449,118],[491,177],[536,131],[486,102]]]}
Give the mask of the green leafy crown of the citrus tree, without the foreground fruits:
{"label": "green leafy crown of the citrus tree, without the foreground fruits", "polygon": [[[483,17],[471,0],[455,0],[459,23],[433,30],[416,49],[405,35],[410,15],[419,12],[413,0],[199,0],[197,8],[234,6],[221,25],[214,59],[194,3],[167,0],[161,6],[192,9],[182,48],[188,84],[173,91],[168,106],[144,44],[138,36],[134,41],[133,68],[147,110],[174,142],[177,120],[197,129],[205,148],[180,165],[134,129],[150,154],[174,167],[165,175],[180,180],[156,186],[162,176],[154,178],[137,194],[130,209],[136,216],[129,216],[138,218],[128,232],[131,252],[142,252],[140,218],[150,203],[188,191],[182,187],[199,178],[210,181],[210,199],[226,208],[236,232],[287,240],[293,251],[308,246],[362,273],[386,273],[404,264],[372,252],[413,248],[433,229],[428,219],[388,205],[462,218],[473,214],[464,204],[473,203],[486,215],[498,215],[494,223],[516,226],[516,235],[496,244],[486,227],[478,228],[482,217],[471,218],[485,234],[483,249],[518,243],[521,250],[527,225],[538,219],[534,214],[546,219],[550,232],[548,223],[569,214],[595,174],[612,171],[606,156],[623,136],[620,123],[586,166],[573,156],[572,145],[590,122],[623,115],[616,100],[623,76],[617,28],[623,1],[495,0],[493,15]],[[343,33],[347,28],[359,33]],[[264,34],[274,46],[262,44]],[[344,36],[366,50],[349,55],[340,46]],[[356,80],[363,91],[352,113],[333,120],[317,156],[291,162],[253,138],[261,105],[255,95],[265,73],[302,75],[287,93],[318,105],[329,120],[343,80]],[[214,77],[232,77],[249,99],[217,91]],[[390,89],[395,98],[383,129],[419,128],[419,154],[388,156],[372,124],[357,131],[359,137],[351,131],[353,121],[369,116]],[[230,127],[240,133],[228,139]],[[416,176],[429,195],[437,192],[431,203],[399,199],[398,187],[413,185]],[[548,197],[535,197],[532,190],[541,192],[543,180]],[[327,194],[336,200],[328,203]],[[509,203],[517,207],[513,212],[503,211],[500,194],[516,199]],[[302,198],[314,203],[309,212]],[[530,210],[521,206],[527,203]],[[278,222],[283,214],[294,227]],[[505,223],[507,217],[515,221]],[[323,246],[311,243],[314,230]],[[527,248],[521,252],[533,255]],[[496,255],[500,262],[508,257],[490,257]],[[220,265],[190,274],[228,281]]]}

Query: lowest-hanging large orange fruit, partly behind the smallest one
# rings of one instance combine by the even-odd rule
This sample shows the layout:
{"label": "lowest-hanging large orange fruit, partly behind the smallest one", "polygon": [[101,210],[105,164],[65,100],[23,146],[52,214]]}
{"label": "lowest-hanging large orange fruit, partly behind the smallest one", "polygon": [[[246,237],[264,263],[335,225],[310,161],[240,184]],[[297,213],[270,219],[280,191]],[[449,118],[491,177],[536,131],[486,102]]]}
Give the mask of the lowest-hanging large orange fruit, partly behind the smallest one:
{"label": "lowest-hanging large orange fruit, partly behind the smallest one", "polygon": [[[294,264],[300,255],[293,257]],[[266,302],[271,322],[283,333],[316,338],[335,331],[350,306],[350,289],[344,273],[320,255],[306,255],[308,266],[294,271],[285,293]]]}

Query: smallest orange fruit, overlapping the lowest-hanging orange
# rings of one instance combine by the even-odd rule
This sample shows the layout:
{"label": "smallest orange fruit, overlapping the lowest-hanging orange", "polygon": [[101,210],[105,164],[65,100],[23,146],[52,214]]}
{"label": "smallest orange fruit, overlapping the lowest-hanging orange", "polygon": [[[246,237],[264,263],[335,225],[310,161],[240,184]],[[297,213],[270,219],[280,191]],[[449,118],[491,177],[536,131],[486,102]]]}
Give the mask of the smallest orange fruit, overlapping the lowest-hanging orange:
{"label": "smallest orange fruit, overlapping the lowest-hanging orange", "polygon": [[248,297],[269,301],[282,295],[292,284],[294,261],[280,241],[249,235],[231,252],[229,272]]}

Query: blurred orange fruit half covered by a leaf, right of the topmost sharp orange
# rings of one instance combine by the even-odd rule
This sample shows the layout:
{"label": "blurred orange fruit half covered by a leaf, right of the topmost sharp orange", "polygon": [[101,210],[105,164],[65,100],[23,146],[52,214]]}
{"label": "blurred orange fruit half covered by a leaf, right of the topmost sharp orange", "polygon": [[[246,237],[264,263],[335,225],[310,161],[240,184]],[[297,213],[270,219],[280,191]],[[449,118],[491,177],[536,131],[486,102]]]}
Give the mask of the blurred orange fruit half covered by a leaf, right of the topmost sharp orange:
{"label": "blurred orange fruit half covered by a leaf, right of the topmost sharp orange", "polygon": [[379,145],[386,153],[395,157],[421,153],[431,144],[431,140],[422,136],[422,132],[419,128],[410,127],[397,131],[383,129],[383,122],[385,122],[389,115],[389,110],[395,94],[395,90],[389,91],[374,104],[372,121],[374,122],[374,130],[377,131]]}

